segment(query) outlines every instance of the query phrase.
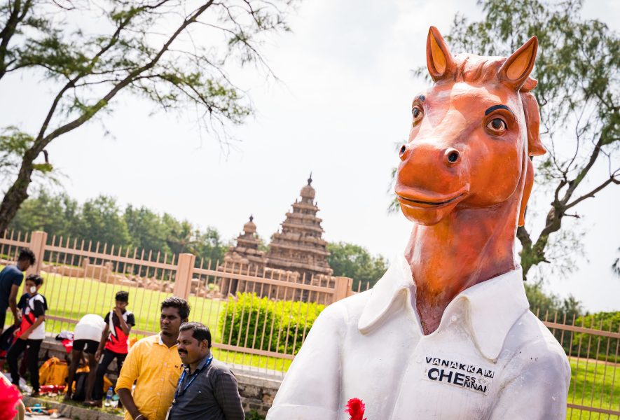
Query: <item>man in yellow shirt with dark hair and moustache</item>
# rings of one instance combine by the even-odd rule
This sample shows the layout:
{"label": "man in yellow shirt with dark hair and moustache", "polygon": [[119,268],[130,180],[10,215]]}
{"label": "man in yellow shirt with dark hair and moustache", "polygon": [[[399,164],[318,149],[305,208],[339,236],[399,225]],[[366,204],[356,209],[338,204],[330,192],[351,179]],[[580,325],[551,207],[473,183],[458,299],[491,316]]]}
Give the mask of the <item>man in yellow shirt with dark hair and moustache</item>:
{"label": "man in yellow shirt with dark hair and moustache", "polygon": [[161,303],[161,332],[130,349],[116,382],[116,393],[127,409],[125,420],[165,420],[182,370],[177,351],[179,327],[188,317],[186,300],[168,297]]}

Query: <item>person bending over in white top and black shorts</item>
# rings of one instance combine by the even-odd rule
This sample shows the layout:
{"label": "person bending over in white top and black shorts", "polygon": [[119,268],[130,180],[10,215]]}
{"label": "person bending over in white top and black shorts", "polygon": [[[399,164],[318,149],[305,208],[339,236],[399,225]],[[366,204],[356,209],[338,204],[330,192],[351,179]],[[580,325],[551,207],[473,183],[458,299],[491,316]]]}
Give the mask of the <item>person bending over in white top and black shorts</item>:
{"label": "person bending over in white top and black shorts", "polygon": [[99,340],[105,327],[104,319],[97,314],[86,314],[76,324],[73,349],[71,349],[71,365],[69,365],[69,377],[67,379],[67,393],[64,395],[66,400],[70,400],[73,395],[76,370],[78,370],[78,365],[84,354],[89,368],[85,400],[92,399],[92,388],[95,385],[95,376],[97,374],[95,353],[99,348]]}

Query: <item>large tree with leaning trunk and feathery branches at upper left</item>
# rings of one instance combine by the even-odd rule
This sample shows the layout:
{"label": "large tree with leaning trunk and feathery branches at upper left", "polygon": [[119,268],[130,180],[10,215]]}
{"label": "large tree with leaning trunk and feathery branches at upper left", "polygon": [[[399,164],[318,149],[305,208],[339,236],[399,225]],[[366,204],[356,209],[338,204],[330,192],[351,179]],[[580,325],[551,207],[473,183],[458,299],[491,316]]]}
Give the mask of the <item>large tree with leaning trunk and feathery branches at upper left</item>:
{"label": "large tree with leaning trunk and feathery branches at upper left", "polygon": [[19,157],[0,204],[0,232],[27,199],[33,173],[46,169],[35,163],[46,146],[111,111],[120,92],[165,111],[192,106],[202,128],[226,141],[226,125],[253,111],[226,69],[236,59],[271,74],[261,41],[288,30],[292,1],[0,0],[0,80],[34,70],[58,87],[37,132],[4,127],[0,146],[20,144],[0,147]]}

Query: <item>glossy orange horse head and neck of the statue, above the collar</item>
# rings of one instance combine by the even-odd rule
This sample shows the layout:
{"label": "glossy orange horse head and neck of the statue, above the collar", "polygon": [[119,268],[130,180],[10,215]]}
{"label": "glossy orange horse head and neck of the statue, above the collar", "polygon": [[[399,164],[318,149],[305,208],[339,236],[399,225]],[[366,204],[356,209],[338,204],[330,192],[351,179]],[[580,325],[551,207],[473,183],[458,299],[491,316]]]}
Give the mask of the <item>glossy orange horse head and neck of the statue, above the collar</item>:
{"label": "glossy orange horse head and neck of the statue, above the collar", "polygon": [[396,193],[415,222],[405,256],[425,332],[462,290],[517,267],[514,239],[545,153],[530,93],[538,41],[510,57],[453,57],[436,28],[427,39],[434,84],[413,99]]}

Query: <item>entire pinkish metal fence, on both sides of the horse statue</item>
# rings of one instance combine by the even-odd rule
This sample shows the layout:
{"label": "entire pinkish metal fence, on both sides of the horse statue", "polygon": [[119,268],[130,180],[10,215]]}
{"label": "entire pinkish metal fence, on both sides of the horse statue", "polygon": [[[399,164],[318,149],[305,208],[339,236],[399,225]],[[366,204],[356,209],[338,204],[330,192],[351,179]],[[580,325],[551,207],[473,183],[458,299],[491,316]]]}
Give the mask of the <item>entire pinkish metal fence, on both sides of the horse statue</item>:
{"label": "entire pinkish metal fence, on both sides of the horse statue", "polygon": [[[179,295],[191,304],[191,320],[214,332],[216,357],[273,373],[287,370],[322,308],[352,294],[352,281],[344,277],[296,283],[284,272],[257,276],[228,262],[48,240],[43,232],[6,232],[0,264],[15,261],[24,246],[43,255],[29,273],[41,272],[45,279],[48,332],[71,330],[84,314],[105,314],[114,294],[127,290],[137,321],[134,337],[151,335],[159,330],[160,302]],[[570,361],[567,419],[620,419],[620,320],[535,313]]]}

